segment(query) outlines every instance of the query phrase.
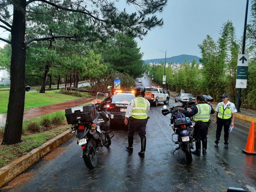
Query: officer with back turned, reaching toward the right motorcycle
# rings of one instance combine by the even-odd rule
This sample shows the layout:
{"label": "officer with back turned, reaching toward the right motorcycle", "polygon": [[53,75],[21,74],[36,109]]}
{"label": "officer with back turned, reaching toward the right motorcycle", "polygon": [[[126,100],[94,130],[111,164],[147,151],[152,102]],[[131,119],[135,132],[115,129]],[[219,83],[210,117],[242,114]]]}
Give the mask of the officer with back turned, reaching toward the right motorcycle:
{"label": "officer with back turned, reaching toward the right motorcycle", "polygon": [[187,117],[193,116],[193,121],[196,122],[194,126],[196,150],[192,151],[192,154],[200,155],[202,141],[203,155],[206,155],[207,134],[208,127],[210,125],[210,114],[214,114],[215,111],[210,105],[210,102],[205,103],[203,95],[196,96],[196,102],[198,103],[196,106],[193,106],[189,110],[182,108],[181,111]]}

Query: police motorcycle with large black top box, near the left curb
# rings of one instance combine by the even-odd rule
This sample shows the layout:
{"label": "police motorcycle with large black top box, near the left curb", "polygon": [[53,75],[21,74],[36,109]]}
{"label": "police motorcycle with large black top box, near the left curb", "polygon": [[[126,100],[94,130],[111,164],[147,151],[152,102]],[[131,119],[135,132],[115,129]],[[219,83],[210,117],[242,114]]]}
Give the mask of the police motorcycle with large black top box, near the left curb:
{"label": "police motorcycle with large black top box, near the left curb", "polygon": [[[98,99],[103,95],[103,100]],[[73,125],[70,127],[71,133],[76,132],[77,144],[83,149],[84,163],[90,170],[97,165],[98,149],[103,146],[108,148],[111,145],[111,138],[115,135],[113,131],[108,131],[110,116],[106,112],[106,105],[111,102],[108,93],[97,92],[96,99],[91,101],[91,105],[65,109],[67,122]]]}

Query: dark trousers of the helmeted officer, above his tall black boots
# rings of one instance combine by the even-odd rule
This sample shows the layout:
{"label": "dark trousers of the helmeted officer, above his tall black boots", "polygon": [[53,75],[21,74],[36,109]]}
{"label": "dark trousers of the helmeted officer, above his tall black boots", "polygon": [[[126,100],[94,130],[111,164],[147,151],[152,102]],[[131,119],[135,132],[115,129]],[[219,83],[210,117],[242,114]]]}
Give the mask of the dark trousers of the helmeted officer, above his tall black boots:
{"label": "dark trousers of the helmeted officer, above his tall black boots", "polygon": [[128,135],[133,136],[134,132],[138,132],[141,139],[146,138],[146,124],[148,119],[130,119],[130,123],[128,124]]}

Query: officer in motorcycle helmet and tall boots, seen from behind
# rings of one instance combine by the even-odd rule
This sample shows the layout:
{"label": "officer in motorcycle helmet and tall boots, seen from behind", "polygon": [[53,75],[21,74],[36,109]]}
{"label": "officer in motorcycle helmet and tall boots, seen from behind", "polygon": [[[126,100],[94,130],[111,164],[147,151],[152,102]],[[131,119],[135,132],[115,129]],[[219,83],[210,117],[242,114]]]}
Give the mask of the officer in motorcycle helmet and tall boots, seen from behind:
{"label": "officer in motorcycle helmet and tall boots, seen from behind", "polygon": [[148,115],[147,112],[150,108],[150,103],[148,100],[144,99],[145,96],[145,88],[143,86],[135,87],[135,97],[131,100],[128,104],[125,113],[124,124],[128,124],[128,118],[130,122],[128,124],[128,146],[126,148],[129,151],[133,151],[133,135],[134,132],[138,132],[141,141],[141,150],[138,153],[139,156],[145,156],[146,150],[146,124],[148,122]]}

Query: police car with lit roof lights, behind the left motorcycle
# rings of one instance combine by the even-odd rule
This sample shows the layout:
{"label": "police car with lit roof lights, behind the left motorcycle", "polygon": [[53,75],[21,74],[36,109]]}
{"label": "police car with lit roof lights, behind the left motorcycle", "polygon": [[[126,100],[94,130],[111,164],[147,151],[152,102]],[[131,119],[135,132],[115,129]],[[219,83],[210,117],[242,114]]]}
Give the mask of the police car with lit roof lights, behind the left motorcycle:
{"label": "police car with lit roof lights, behind the left motorcycle", "polygon": [[128,104],[134,99],[132,92],[116,92],[112,96],[112,103],[107,105],[107,111],[114,117],[110,117],[110,123],[123,123]]}

